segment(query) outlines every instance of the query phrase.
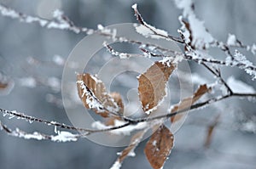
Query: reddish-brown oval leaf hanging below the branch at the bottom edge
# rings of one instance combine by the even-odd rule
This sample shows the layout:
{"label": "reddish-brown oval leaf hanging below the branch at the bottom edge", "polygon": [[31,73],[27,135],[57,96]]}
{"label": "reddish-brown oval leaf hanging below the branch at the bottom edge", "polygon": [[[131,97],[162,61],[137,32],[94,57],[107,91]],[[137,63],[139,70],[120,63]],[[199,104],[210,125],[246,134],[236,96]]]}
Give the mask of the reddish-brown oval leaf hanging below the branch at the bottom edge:
{"label": "reddish-brown oval leaf hanging below the branch at the bottom edge", "polygon": [[161,126],[148,140],[144,153],[154,169],[160,169],[164,166],[171,153],[173,140],[172,132],[165,126]]}

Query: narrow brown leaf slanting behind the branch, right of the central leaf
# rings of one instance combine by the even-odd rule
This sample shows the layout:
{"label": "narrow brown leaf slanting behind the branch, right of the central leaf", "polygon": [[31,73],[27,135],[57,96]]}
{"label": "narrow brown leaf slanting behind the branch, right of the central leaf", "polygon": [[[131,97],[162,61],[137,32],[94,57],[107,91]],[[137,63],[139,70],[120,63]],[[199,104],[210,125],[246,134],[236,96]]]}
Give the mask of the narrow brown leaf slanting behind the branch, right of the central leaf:
{"label": "narrow brown leaf slanting behind the branch, right of the central leaf", "polygon": [[[189,109],[192,104],[195,104],[195,102],[201,98],[202,95],[205,93],[208,93],[211,91],[211,87],[207,87],[206,84],[200,85],[198,89],[195,91],[192,97],[183,99],[179,104],[176,104],[172,110],[171,113],[177,112],[177,110],[186,110]],[[177,114],[175,116],[171,117],[172,123],[175,121],[179,121],[183,117],[183,114]]]}

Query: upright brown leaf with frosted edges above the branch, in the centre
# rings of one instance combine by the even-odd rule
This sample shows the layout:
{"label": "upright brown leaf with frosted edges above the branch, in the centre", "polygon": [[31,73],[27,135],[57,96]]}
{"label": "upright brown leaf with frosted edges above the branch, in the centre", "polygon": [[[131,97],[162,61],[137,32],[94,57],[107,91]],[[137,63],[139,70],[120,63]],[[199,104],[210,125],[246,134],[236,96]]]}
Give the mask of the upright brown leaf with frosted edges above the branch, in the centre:
{"label": "upright brown leaf with frosted edges above the branch, in the centre", "polygon": [[166,82],[175,68],[172,63],[157,61],[138,77],[139,98],[147,114],[166,96]]}

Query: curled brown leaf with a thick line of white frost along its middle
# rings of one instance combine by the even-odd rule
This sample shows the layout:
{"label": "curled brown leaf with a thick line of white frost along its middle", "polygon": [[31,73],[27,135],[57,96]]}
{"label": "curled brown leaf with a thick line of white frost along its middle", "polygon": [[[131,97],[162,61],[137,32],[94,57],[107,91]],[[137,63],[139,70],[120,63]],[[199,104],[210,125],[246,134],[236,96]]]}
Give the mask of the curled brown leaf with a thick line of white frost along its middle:
{"label": "curled brown leaf with a thick line of white frost along its middle", "polygon": [[[112,97],[107,93],[103,82],[88,73],[77,76],[79,97],[87,109],[94,110],[97,114],[107,117],[109,113],[123,113],[121,98],[115,94]],[[119,97],[119,98],[118,98]],[[115,99],[118,103],[115,102]]]}

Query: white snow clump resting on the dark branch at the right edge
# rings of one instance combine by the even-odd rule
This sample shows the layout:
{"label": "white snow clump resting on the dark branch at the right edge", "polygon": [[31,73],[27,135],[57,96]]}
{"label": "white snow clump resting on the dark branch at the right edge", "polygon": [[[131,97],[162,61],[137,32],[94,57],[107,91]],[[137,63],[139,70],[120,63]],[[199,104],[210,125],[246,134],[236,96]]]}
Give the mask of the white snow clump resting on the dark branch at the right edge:
{"label": "white snow clump resting on the dark branch at the right edge", "polygon": [[245,82],[236,80],[233,76],[230,76],[227,80],[231,90],[235,93],[255,93],[253,87],[247,85]]}

